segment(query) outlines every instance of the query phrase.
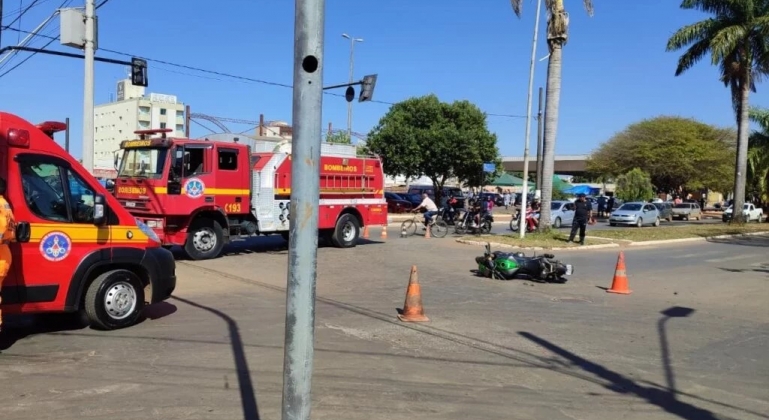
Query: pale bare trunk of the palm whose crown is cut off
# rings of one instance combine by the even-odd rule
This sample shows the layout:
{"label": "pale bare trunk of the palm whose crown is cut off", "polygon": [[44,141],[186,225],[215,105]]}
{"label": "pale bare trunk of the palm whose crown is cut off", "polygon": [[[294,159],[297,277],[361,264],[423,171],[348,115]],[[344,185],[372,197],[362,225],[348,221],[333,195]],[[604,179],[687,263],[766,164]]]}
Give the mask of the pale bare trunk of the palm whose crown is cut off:
{"label": "pale bare trunk of the palm whose crown is cut off", "polygon": [[550,228],[550,202],[553,199],[553,171],[555,166],[555,139],[558,132],[558,107],[561,102],[561,60],[563,44],[548,40],[550,59],[547,64],[547,99],[545,101],[545,137],[542,144],[542,205],[539,226]]}

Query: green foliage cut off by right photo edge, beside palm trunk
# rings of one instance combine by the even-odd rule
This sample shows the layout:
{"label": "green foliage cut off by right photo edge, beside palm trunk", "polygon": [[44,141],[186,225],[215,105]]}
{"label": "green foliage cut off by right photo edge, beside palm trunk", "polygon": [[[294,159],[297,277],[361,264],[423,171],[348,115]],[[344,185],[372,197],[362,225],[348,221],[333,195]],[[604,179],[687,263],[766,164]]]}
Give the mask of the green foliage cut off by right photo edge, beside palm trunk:
{"label": "green foliage cut off by right photo edge, beside palm trunk", "polygon": [[769,109],[750,108],[750,119],[760,130],[750,134],[748,142],[748,180],[764,204],[769,203]]}

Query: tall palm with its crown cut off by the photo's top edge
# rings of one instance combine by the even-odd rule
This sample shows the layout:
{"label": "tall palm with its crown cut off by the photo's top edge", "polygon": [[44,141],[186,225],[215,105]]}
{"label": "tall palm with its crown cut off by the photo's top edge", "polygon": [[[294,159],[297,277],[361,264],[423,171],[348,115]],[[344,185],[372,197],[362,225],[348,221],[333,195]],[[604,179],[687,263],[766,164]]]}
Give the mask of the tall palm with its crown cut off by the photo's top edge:
{"label": "tall palm with its crown cut off by the photo's top edge", "polygon": [[[521,17],[523,0],[510,0],[515,15]],[[582,0],[589,16],[593,16],[592,0]],[[545,100],[545,134],[542,140],[542,205],[539,214],[540,227],[550,226],[550,201],[553,197],[553,166],[555,139],[558,133],[558,109],[561,103],[561,66],[563,46],[569,38],[569,14],[563,0],[545,0],[547,9],[547,93]]]}

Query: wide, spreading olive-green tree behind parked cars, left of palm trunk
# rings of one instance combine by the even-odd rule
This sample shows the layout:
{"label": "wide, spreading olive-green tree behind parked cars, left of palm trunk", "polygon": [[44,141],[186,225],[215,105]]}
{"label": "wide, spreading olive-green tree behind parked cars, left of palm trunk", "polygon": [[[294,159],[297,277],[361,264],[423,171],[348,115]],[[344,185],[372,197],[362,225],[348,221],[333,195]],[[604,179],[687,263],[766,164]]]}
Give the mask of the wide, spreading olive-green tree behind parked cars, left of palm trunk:
{"label": "wide, spreading olive-green tree behind parked cars, left of palm trunk", "polygon": [[731,190],[734,130],[691,118],[661,116],[629,125],[601,144],[587,161],[596,177],[640,168],[658,191]]}

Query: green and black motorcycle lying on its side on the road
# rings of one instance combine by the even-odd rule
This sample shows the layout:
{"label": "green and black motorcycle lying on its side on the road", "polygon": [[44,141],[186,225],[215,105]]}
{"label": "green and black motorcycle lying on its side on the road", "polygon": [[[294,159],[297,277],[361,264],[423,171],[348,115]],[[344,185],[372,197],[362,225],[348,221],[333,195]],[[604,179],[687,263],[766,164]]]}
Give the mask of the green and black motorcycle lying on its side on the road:
{"label": "green and black motorcycle lying on its side on the road", "polygon": [[549,283],[566,283],[565,276],[574,274],[571,264],[555,260],[553,254],[527,257],[523,252],[491,251],[491,244],[486,244],[482,257],[475,257],[478,275],[495,280],[512,280],[519,276],[531,280]]}

